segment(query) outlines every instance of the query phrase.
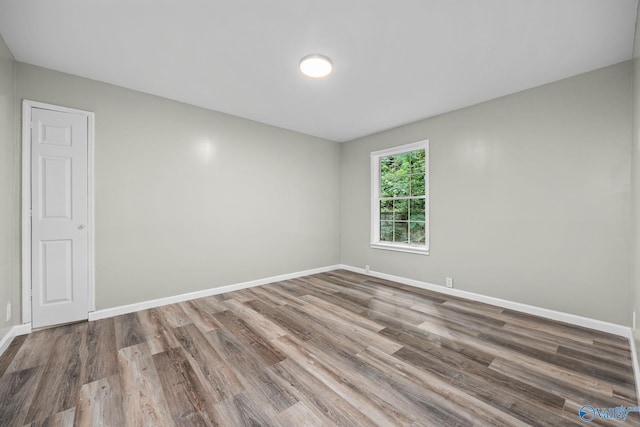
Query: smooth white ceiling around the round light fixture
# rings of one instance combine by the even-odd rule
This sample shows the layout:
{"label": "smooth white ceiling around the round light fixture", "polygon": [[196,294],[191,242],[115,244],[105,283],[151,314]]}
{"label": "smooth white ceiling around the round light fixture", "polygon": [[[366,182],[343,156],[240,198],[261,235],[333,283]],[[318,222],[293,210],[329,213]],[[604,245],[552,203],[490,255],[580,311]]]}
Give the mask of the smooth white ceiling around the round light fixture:
{"label": "smooth white ceiling around the round light fixture", "polygon": [[[348,141],[631,59],[638,0],[0,0],[17,60]],[[334,73],[303,77],[301,57]]]}

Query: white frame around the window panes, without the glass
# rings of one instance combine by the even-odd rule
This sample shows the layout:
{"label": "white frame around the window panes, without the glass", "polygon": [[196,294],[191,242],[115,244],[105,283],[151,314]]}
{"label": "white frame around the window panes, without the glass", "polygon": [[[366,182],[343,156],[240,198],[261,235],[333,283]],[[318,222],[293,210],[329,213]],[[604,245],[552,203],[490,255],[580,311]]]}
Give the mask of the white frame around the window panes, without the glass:
{"label": "white frame around the window panes, without the glass", "polygon": [[[391,243],[380,240],[380,158],[409,151],[424,150],[425,240],[424,246],[408,243]],[[371,153],[371,248],[413,254],[429,255],[429,140],[413,142]]]}

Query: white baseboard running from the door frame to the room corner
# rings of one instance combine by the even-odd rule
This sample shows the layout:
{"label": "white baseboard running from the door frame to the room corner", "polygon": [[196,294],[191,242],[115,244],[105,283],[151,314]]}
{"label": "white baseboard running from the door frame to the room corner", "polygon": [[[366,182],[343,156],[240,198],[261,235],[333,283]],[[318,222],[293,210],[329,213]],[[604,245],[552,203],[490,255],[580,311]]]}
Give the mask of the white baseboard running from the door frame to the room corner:
{"label": "white baseboard running from the door frame to the room corner", "polygon": [[103,310],[97,310],[93,313],[89,313],[89,320],[105,319],[107,317],[118,316],[121,314],[133,313],[140,310],[146,310],[149,308],[160,307],[167,304],[175,304],[177,302],[189,301],[196,298],[204,298],[211,295],[219,295],[225,292],[238,291],[240,289],[252,288],[255,286],[266,285],[269,283],[280,282],[283,280],[295,279],[303,276],[310,276],[312,274],[326,273],[341,268],[339,265],[332,265],[327,267],[314,268],[311,270],[298,271],[296,273],[281,274],[279,276],[267,277],[264,279],[251,280],[249,282],[235,283],[233,285],[220,286],[217,288],[205,289],[203,291],[189,292],[186,294],[174,295],[165,298],[158,298],[154,300],[142,301],[134,304],[121,305],[119,307],[106,308]]}

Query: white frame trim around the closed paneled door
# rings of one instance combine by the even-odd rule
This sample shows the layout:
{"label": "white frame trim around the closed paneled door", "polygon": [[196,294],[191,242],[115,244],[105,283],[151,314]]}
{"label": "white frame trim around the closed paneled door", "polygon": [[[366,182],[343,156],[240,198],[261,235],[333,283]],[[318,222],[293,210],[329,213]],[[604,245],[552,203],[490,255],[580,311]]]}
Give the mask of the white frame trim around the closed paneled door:
{"label": "white frame trim around the closed paneled door", "polygon": [[22,101],[22,323],[31,323],[31,109],[41,108],[61,113],[80,114],[87,117],[87,178],[88,223],[87,266],[89,277],[87,313],[95,311],[95,200],[94,200],[94,139],[95,114],[90,111],[43,102]]}

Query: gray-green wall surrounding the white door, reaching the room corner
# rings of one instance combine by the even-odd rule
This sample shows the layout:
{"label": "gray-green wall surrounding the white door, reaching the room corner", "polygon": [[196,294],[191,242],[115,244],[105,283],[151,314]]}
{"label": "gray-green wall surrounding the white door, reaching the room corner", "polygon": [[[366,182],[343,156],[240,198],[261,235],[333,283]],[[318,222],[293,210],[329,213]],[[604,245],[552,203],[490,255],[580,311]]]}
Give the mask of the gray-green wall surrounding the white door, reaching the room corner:
{"label": "gray-green wall surrounding the white door, reaching the room corner", "polygon": [[337,143],[18,63],[17,97],[96,113],[103,309],[339,262]]}

